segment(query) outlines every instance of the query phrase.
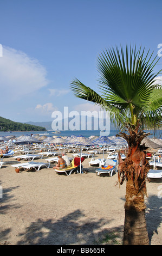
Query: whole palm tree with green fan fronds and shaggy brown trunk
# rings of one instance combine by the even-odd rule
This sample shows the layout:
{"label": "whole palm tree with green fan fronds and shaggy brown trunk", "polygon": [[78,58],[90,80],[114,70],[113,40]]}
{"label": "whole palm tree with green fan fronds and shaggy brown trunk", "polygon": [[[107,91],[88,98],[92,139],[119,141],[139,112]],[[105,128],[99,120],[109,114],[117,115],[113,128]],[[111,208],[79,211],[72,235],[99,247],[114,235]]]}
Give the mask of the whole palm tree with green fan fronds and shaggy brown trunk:
{"label": "whole palm tree with green fan fronds and shaggy brown trunk", "polygon": [[[147,196],[146,176],[150,169],[147,148],[142,139],[144,129],[161,126],[162,88],[155,84],[154,67],[159,58],[145,48],[126,45],[103,51],[98,57],[100,92],[85,86],[75,78],[70,88],[75,96],[100,105],[109,111],[111,119],[120,127],[128,150],[125,161],[119,154],[119,184],[126,180],[124,245],[148,245],[144,197]],[[124,132],[125,131],[125,132]]]}

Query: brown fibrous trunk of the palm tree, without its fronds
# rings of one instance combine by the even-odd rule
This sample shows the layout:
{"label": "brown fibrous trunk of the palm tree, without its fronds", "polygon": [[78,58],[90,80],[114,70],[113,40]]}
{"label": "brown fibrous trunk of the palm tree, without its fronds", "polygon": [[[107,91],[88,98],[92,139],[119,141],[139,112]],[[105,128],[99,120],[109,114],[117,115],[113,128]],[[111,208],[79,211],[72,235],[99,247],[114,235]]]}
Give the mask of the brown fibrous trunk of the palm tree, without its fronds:
{"label": "brown fibrous trunk of the palm tree, without its fronds", "polygon": [[144,196],[146,191],[146,176],[150,169],[146,160],[145,147],[140,143],[147,136],[139,125],[132,129],[129,126],[129,134],[120,133],[128,142],[125,161],[121,160],[119,153],[119,183],[122,185],[126,180],[126,203],[125,203],[125,227],[124,245],[148,245],[148,233],[145,218]]}

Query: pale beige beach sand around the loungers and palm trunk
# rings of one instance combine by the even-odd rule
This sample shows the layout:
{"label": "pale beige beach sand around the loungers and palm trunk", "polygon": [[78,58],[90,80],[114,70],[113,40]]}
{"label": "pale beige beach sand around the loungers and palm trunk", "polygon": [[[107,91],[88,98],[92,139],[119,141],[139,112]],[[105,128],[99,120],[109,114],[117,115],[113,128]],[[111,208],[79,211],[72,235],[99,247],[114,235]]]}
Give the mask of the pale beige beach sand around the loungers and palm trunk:
{"label": "pale beige beach sand around the loungers and palm trunk", "polygon": [[[87,174],[70,176],[57,175],[53,163],[38,172],[16,173],[11,167],[18,163],[15,159],[3,161],[0,245],[122,244],[126,183],[116,186],[117,173],[97,176],[90,159],[83,162]],[[162,245],[162,180],[147,182],[147,192],[150,244]]]}

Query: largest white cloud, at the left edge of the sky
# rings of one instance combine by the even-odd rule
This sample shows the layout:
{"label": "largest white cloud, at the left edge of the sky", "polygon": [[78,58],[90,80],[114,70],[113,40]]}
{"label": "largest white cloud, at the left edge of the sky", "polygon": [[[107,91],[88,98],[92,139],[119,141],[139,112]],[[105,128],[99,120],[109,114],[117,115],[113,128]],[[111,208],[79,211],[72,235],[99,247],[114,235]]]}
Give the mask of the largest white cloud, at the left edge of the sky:
{"label": "largest white cloud, at the left edge of the sky", "polygon": [[4,95],[17,98],[33,93],[47,86],[46,75],[46,69],[37,59],[3,46],[3,57],[0,58],[0,84],[3,86]]}

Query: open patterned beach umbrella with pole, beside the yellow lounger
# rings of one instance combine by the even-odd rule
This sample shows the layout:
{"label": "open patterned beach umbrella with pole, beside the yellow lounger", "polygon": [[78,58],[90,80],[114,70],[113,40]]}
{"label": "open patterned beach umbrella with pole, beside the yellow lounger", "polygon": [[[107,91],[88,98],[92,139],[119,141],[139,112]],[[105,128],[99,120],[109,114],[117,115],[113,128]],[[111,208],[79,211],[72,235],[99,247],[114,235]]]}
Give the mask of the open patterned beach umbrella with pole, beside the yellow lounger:
{"label": "open patterned beach umbrella with pole, beside the yellow lounger", "polygon": [[81,145],[86,145],[86,146],[90,146],[93,145],[92,141],[90,141],[90,139],[79,135],[79,136],[75,136],[72,139],[70,139],[68,141],[68,144],[76,144],[80,146],[80,173],[81,173]]}

